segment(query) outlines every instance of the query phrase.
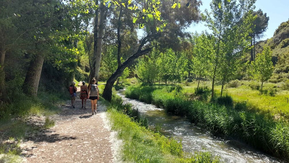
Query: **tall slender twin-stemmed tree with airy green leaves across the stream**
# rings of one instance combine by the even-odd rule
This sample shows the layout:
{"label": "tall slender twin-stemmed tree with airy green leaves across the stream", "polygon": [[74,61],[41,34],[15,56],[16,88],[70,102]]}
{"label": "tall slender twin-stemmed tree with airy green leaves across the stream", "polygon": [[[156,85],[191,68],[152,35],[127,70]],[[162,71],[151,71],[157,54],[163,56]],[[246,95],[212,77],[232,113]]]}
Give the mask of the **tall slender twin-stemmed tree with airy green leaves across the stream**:
{"label": "tall slender twin-stemmed tree with airy green leaves across the stream", "polygon": [[255,7],[253,5],[255,0],[245,0],[240,3],[236,0],[228,2],[220,3],[219,0],[213,0],[210,4],[212,12],[205,10],[206,15],[204,15],[207,26],[216,38],[215,53],[212,57],[213,68],[210,73],[212,98],[214,98],[215,81],[222,80],[223,90],[227,74],[230,73],[228,70],[236,69],[235,64],[232,64],[238,59],[235,54],[238,54],[244,47],[248,38],[248,27],[251,27],[251,21],[253,21],[251,14],[248,13]]}

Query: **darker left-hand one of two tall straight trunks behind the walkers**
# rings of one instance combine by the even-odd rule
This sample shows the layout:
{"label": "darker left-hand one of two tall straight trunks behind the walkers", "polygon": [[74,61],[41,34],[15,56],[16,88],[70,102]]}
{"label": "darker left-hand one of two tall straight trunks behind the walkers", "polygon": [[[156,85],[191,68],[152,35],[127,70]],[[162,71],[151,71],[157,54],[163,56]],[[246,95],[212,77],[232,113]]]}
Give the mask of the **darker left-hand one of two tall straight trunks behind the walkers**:
{"label": "darker left-hand one of two tall straight trunks behind the walkers", "polygon": [[[98,4],[98,0],[95,2],[95,4]],[[98,14],[99,11],[98,9],[95,10],[95,22],[94,22],[94,45],[93,45],[93,56],[92,56],[92,64],[91,67],[92,69],[90,69],[90,73],[89,73],[89,82],[88,85],[91,85],[91,80],[92,78],[94,78],[95,76],[95,66],[96,66],[96,53],[97,53],[97,35],[98,35]]]}

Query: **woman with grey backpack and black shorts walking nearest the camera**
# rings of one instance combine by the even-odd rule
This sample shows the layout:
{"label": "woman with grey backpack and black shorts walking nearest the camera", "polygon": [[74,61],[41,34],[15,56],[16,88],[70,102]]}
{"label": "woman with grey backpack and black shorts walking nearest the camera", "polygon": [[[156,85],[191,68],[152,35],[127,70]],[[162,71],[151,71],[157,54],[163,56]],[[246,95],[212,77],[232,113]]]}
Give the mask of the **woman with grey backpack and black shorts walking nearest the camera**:
{"label": "woman with grey backpack and black shorts walking nearest the camera", "polygon": [[92,78],[92,84],[88,88],[88,98],[90,99],[91,102],[92,115],[95,115],[97,113],[96,103],[97,100],[99,100],[99,90],[95,83],[96,83],[95,78]]}

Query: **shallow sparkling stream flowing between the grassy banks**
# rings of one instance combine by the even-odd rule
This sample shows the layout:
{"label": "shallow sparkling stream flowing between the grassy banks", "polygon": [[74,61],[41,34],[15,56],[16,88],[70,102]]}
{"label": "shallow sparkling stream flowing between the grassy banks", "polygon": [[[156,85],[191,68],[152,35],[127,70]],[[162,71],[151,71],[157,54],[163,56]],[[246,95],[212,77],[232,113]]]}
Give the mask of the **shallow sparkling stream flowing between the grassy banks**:
{"label": "shallow sparkling stream flowing between the grassy banks", "polygon": [[139,100],[125,98],[125,90],[118,91],[125,102],[129,102],[135,109],[138,109],[142,115],[147,116],[149,125],[160,126],[161,133],[165,136],[174,136],[182,140],[183,150],[189,153],[206,150],[221,156],[225,162],[286,162],[279,160],[260,151],[256,151],[247,145],[238,141],[222,140],[214,137],[208,132],[192,124],[190,120],[181,116],[175,116],[166,113],[163,109],[155,105],[146,104]]}

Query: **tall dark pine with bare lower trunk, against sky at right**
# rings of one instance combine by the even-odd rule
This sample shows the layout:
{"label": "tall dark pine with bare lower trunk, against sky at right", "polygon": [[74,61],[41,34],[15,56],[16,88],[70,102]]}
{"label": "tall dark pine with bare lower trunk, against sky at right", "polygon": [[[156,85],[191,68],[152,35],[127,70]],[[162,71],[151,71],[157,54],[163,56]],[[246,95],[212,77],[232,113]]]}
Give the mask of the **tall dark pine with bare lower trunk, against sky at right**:
{"label": "tall dark pine with bare lower trunk, against sky at right", "polygon": [[252,15],[255,17],[255,20],[252,24],[252,33],[251,36],[251,61],[254,61],[255,59],[255,43],[256,39],[260,39],[263,37],[263,33],[268,28],[268,21],[269,17],[267,17],[266,13],[263,13],[261,9],[254,11]]}

